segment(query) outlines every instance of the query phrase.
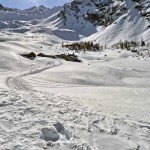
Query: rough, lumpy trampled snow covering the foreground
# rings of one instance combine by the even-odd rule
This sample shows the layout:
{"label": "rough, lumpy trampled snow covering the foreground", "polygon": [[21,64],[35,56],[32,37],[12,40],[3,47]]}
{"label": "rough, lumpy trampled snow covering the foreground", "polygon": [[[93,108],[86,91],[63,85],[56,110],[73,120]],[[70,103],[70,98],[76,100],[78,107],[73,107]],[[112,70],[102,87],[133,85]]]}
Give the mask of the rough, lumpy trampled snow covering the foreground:
{"label": "rough, lumpy trampled snow covering the foreground", "polygon": [[[2,150],[148,150],[150,146],[149,123],[102,115],[78,104],[75,97],[0,89],[0,98]],[[57,121],[64,132],[57,132]]]}

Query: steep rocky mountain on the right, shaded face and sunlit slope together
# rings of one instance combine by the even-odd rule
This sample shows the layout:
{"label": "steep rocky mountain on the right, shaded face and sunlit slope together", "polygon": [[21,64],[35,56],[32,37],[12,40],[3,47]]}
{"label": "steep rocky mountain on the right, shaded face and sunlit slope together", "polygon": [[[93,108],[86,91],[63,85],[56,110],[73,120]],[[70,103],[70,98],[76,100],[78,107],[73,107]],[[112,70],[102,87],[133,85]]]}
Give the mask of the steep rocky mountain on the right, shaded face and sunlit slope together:
{"label": "steep rocky mountain on the right, shaded face and sunlit slope together", "polygon": [[149,0],[72,0],[60,12],[66,28],[108,43],[120,39],[150,40]]}

